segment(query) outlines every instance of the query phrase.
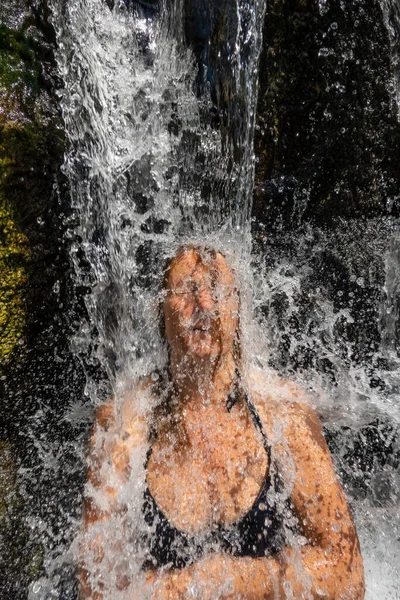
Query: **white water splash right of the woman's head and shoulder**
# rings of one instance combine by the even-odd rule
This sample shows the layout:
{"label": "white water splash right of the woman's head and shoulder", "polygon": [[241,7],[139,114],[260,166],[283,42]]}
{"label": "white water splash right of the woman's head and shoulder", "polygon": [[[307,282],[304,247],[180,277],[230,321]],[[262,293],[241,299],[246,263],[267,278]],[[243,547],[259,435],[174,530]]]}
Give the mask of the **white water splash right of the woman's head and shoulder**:
{"label": "white water splash right of the woman's head and shoulder", "polygon": [[[307,390],[361,541],[366,598],[400,597],[398,236],[392,219],[265,235],[254,358]],[[260,258],[261,257],[261,258]],[[261,329],[261,335],[260,335]],[[268,358],[267,358],[268,357]]]}

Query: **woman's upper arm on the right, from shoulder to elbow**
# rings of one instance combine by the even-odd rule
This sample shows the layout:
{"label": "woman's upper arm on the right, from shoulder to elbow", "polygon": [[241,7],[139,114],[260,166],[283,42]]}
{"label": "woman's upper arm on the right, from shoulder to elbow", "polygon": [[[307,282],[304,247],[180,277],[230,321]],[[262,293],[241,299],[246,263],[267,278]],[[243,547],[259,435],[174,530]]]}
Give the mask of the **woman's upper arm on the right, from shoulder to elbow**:
{"label": "woman's upper arm on the right, from shoulder to elbow", "polygon": [[357,532],[321,424],[307,404],[293,403],[288,411],[287,443],[296,469],[292,501],[308,544],[301,549],[297,569],[296,551],[285,551],[284,578],[294,590],[306,581],[311,593],[305,597],[362,600],[364,569]]}

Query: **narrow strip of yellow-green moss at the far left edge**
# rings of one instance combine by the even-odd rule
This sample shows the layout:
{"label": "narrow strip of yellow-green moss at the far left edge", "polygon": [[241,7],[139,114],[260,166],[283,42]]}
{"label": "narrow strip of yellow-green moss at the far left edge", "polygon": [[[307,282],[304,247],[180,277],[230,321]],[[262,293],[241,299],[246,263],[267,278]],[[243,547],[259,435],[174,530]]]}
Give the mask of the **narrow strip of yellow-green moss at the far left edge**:
{"label": "narrow strip of yellow-green moss at the far left edge", "polygon": [[26,325],[29,245],[15,200],[23,188],[24,168],[29,168],[26,154],[36,154],[34,144],[26,142],[35,128],[40,93],[38,41],[30,15],[24,2],[9,8],[18,8],[22,17],[13,26],[6,7],[0,15],[0,374],[20,347]]}

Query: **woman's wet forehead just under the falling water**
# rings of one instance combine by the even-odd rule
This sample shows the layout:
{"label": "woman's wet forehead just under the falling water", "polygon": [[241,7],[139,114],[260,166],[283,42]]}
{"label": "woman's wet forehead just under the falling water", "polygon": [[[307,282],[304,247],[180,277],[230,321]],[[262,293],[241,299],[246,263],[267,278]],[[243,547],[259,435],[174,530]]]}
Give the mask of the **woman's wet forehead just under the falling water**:
{"label": "woman's wet forehead just under the falling water", "polygon": [[201,254],[193,249],[182,252],[172,261],[168,273],[168,283],[173,285],[197,274],[209,275],[225,285],[234,283],[233,269],[222,254],[217,252],[212,256],[208,253]]}

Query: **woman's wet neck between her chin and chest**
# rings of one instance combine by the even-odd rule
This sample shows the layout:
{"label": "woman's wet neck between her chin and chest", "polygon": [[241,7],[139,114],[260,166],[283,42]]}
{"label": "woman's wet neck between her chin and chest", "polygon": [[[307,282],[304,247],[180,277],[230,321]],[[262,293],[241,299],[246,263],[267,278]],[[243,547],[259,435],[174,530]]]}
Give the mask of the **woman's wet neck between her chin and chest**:
{"label": "woman's wet neck between her chin and chest", "polygon": [[181,406],[207,406],[226,410],[236,369],[233,354],[197,359],[171,355],[171,376]]}

